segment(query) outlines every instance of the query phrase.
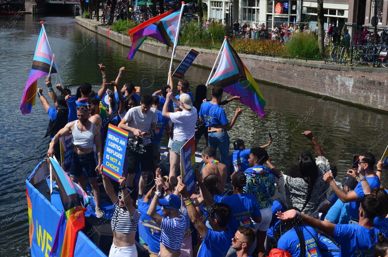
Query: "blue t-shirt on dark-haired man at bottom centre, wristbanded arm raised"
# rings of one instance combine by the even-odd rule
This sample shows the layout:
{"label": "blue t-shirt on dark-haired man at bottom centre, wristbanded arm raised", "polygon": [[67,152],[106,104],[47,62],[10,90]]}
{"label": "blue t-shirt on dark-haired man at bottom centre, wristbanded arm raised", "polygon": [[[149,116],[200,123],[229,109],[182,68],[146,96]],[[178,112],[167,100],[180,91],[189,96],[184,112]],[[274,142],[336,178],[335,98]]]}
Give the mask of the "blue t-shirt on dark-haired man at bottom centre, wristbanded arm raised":
{"label": "blue t-shirt on dark-haired man at bottom centre, wristbanded arm raised", "polygon": [[208,228],[205,238],[198,249],[197,257],[223,257],[228,253],[232,244],[232,233],[228,231],[217,232]]}

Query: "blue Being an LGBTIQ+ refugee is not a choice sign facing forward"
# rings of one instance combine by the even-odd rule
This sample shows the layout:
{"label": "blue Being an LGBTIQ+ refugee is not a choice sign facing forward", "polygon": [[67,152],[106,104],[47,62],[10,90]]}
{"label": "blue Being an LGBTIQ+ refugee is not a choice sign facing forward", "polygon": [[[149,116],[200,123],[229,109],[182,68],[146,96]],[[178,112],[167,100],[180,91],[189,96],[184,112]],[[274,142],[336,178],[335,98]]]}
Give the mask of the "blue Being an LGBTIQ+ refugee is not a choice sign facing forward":
{"label": "blue Being an LGBTIQ+ refugee is not a choice sign facing forward", "polygon": [[128,141],[128,132],[109,124],[104,149],[102,173],[119,181],[123,174],[125,148]]}

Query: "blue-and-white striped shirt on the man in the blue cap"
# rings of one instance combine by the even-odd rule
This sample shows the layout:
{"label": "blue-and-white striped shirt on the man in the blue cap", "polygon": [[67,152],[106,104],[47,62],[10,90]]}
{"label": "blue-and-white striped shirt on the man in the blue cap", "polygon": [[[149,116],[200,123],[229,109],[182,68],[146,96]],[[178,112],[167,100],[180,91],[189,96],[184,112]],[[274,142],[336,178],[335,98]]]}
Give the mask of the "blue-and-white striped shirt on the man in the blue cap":
{"label": "blue-and-white striped shirt on the man in the blue cap", "polygon": [[186,219],[182,215],[180,217],[182,218],[170,219],[163,217],[160,226],[162,234],[159,242],[172,250],[179,250],[182,247],[183,236],[186,230]]}

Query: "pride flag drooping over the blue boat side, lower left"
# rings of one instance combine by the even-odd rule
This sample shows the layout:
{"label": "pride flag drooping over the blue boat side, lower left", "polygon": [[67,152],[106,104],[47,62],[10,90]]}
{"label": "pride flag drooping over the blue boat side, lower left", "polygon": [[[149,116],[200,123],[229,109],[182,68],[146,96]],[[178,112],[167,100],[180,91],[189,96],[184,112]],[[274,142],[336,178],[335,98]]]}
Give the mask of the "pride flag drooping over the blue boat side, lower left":
{"label": "pride flag drooping over the blue boat side, lower left", "polygon": [[[80,195],[89,200],[87,194],[71,181],[62,167],[53,158],[50,158],[53,166],[52,173],[56,178],[59,195],[63,205],[61,218],[50,251],[50,257],[73,257],[77,241],[78,231],[85,227],[86,208],[81,206]],[[86,199],[85,199],[86,198]]]}

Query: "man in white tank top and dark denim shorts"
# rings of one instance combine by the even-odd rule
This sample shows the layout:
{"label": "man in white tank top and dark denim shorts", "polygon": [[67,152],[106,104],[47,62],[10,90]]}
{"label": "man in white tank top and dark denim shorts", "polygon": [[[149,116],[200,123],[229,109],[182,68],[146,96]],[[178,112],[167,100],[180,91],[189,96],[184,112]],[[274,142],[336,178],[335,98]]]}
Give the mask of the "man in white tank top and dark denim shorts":
{"label": "man in white tank top and dark denim shorts", "polygon": [[[68,133],[73,135],[71,139],[74,145],[73,161],[71,161],[70,167],[71,181],[78,184],[82,168],[85,168],[94,194],[95,213],[98,218],[101,218],[104,216],[104,212],[100,209],[100,188],[97,184],[97,173],[100,173],[103,159],[100,129],[88,120],[90,114],[86,105],[77,106],[76,110],[78,120],[67,123],[64,128],[59,130],[50,143],[47,155],[52,157],[55,154],[54,145],[59,141],[59,138]],[[99,161],[97,167],[94,159],[94,144]]]}

